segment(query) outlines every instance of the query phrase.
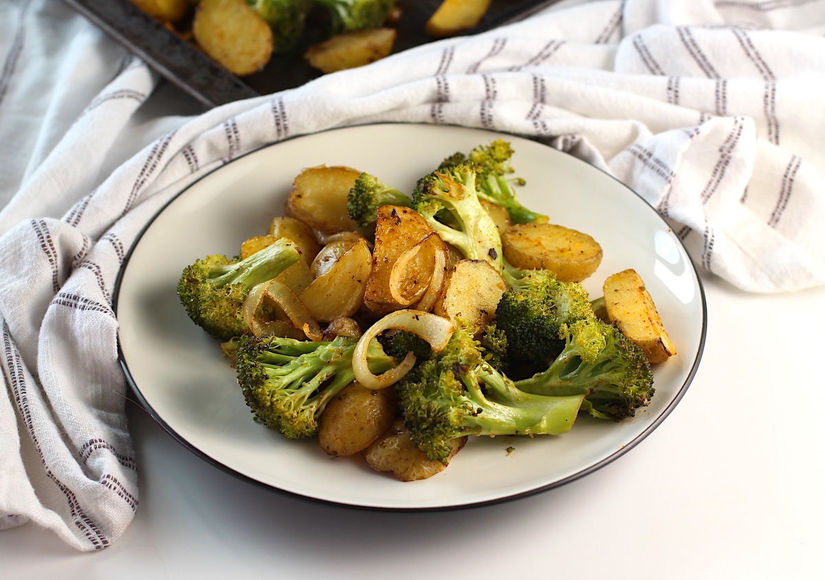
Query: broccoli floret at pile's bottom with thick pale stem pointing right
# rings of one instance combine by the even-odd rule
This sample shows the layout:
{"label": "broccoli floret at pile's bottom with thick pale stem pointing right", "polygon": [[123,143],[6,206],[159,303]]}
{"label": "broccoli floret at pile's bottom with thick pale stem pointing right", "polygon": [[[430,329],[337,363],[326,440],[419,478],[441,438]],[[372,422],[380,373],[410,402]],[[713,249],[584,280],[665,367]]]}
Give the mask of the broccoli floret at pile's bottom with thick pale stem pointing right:
{"label": "broccoli floret at pile's bottom with thick pale stem pointing right", "polygon": [[463,328],[395,386],[411,441],[442,463],[450,456],[450,441],[462,436],[567,432],[583,400],[582,394],[548,397],[516,389]]}

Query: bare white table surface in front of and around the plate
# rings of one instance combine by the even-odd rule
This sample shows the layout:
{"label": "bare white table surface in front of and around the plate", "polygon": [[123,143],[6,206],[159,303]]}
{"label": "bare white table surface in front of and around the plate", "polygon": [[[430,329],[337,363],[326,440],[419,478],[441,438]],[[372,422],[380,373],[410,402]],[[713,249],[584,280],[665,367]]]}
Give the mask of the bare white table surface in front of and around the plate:
{"label": "bare white table surface in front of and around the plate", "polygon": [[130,403],[140,504],[125,535],[81,554],[5,530],[0,578],[823,578],[825,288],[703,283],[705,355],[685,397],[583,479],[451,512],[329,507],[214,468]]}

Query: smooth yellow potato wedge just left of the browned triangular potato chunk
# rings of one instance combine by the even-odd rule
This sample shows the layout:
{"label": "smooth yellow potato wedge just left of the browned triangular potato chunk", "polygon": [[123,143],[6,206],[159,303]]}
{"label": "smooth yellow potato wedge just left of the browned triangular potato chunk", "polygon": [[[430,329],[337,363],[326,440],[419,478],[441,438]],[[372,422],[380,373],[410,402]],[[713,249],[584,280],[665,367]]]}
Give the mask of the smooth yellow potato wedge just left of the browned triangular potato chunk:
{"label": "smooth yellow potato wedge just left of the browned triangular potato chunk", "polygon": [[371,269],[370,247],[361,238],[298,297],[318,321],[328,323],[335,318],[352,316],[364,304]]}

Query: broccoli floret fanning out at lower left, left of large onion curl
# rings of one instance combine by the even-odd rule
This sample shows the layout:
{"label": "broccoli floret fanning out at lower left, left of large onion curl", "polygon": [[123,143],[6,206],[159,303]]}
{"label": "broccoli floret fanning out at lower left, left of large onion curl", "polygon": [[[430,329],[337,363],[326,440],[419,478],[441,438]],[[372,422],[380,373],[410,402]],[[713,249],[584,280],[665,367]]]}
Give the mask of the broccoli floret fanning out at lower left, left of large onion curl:
{"label": "broccoli floret fanning out at lower left, left of large onion curl", "polygon": [[[255,420],[290,439],[311,437],[327,403],[355,380],[356,337],[299,341],[241,337],[235,348],[238,384]],[[370,370],[380,374],[395,364],[377,341],[367,350]]]}

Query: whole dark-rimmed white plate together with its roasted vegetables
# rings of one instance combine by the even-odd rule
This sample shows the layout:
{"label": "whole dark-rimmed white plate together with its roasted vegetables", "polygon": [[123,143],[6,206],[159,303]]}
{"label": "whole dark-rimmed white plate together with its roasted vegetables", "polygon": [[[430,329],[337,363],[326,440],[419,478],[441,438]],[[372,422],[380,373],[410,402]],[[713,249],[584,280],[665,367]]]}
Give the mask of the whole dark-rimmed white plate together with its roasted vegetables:
{"label": "whole dark-rimmed white plate together with its roasted vegetables", "polygon": [[690,257],[634,191],[535,140],[437,125],[220,167],[144,229],[115,310],[134,393],[184,446],[394,510],[615,460],[685,394],[706,326]]}

